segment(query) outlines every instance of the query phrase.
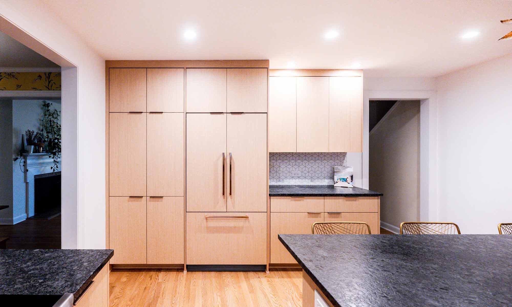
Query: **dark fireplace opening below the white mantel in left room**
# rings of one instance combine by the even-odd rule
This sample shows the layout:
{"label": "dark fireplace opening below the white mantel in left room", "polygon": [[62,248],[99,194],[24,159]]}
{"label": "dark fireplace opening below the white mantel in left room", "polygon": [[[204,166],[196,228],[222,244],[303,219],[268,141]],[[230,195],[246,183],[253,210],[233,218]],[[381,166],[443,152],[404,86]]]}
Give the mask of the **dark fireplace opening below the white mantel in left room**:
{"label": "dark fireplace opening below the white mantel in left room", "polygon": [[34,216],[46,218],[60,214],[60,171],[34,176]]}

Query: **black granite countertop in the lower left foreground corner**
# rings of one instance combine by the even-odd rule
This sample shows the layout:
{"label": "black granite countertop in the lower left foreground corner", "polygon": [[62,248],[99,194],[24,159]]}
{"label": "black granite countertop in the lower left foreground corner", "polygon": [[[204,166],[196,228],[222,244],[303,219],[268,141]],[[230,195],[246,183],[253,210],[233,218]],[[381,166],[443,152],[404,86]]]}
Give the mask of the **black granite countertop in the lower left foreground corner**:
{"label": "black granite countertop in the lower left foreground corner", "polygon": [[0,295],[63,295],[75,300],[114,250],[0,250]]}

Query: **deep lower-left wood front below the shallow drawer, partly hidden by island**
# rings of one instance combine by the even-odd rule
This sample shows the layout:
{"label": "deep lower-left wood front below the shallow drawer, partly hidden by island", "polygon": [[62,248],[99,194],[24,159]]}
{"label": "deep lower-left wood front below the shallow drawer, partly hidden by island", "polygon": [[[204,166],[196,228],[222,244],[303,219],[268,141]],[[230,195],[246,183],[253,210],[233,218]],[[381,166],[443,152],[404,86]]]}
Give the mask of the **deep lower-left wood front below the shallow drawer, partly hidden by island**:
{"label": "deep lower-left wood front below the shallow drawer, partly hidden by island", "polygon": [[311,234],[311,225],[316,222],[324,222],[324,212],[270,213],[270,263],[296,264],[278,234]]}

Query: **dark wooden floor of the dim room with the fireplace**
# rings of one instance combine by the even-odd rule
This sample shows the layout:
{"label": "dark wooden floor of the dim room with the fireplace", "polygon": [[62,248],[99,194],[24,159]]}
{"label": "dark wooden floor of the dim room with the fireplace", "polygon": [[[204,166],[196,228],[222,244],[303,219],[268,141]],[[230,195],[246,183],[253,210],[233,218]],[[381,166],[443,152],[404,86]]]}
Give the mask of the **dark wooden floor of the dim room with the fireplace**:
{"label": "dark wooden floor of the dim room with the fireplace", "polygon": [[9,237],[9,249],[59,249],[60,215],[50,220],[29,218],[14,225],[0,225],[0,237]]}

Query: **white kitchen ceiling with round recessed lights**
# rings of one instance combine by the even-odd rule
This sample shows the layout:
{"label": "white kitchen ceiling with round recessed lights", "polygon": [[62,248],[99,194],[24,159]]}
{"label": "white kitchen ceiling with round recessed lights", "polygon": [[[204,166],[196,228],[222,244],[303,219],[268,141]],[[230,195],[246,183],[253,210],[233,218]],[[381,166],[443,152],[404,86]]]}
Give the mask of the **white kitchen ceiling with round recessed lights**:
{"label": "white kitchen ceiling with round recessed lights", "polygon": [[[269,59],[271,68],[438,76],[512,53],[512,1],[44,0],[105,59]],[[193,28],[198,37],[185,41]],[[326,41],[323,34],[339,31]],[[481,34],[462,40],[468,30]]]}

